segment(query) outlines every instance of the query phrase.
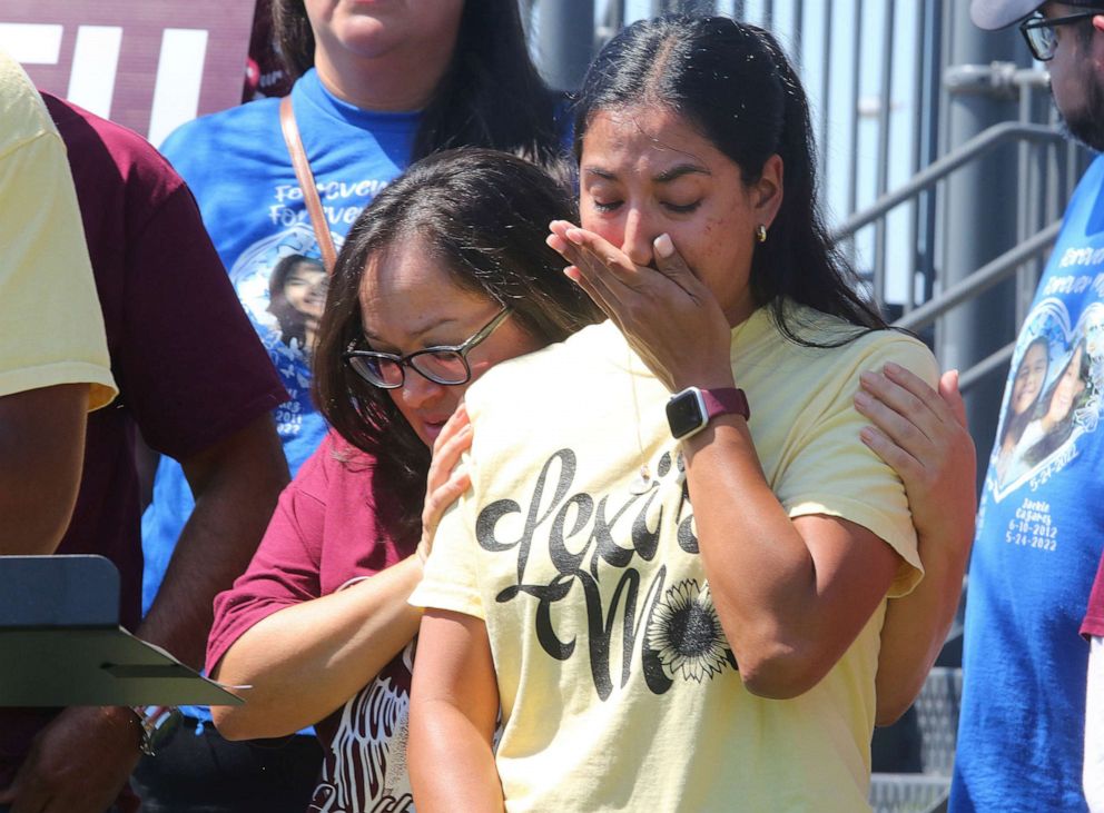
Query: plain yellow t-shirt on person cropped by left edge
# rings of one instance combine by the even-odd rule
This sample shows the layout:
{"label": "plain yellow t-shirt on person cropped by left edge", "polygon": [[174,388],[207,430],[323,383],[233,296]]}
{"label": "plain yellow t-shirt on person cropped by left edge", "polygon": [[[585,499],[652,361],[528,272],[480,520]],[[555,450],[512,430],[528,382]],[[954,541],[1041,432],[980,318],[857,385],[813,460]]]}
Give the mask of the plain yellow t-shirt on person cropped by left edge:
{"label": "plain yellow t-shirt on person cropped by left edge", "polygon": [[66,148],[42,99],[0,51],[0,396],[88,384],[116,395]]}

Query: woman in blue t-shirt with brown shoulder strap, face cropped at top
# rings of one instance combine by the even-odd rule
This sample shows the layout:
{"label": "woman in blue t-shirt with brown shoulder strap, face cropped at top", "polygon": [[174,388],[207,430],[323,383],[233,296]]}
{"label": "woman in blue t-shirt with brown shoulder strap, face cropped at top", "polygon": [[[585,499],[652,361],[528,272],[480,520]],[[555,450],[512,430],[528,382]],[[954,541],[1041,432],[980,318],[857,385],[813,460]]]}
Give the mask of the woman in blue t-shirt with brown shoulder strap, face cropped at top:
{"label": "woman in blue t-shirt with brown shoulder strap, face cropped at top", "polygon": [[[339,248],[373,196],[410,162],[434,151],[470,145],[541,162],[560,157],[564,139],[555,121],[559,99],[530,59],[516,0],[273,0],[270,6],[279,52],[295,78],[287,98],[314,180],[300,185],[297,178],[282,137],[278,99],[190,121],[162,151],[195,194],[290,396],[274,417],[294,475],[326,426],[309,397],[314,317],[304,317],[305,330],[287,329],[296,315],[273,284],[280,259],[325,256],[326,232]],[[319,189],[317,221],[300,186]],[[205,527],[199,516],[205,507],[199,508],[194,514],[186,473],[162,459],[142,518],[144,607],[155,601],[181,533]],[[191,516],[196,519],[186,524]],[[314,772],[317,750],[309,736],[278,753],[250,752],[228,747],[210,725],[200,724],[206,708],[186,713],[181,730],[200,735],[174,737],[157,760],[139,765],[140,792],[151,807],[191,804],[238,813],[241,799],[255,797],[249,781],[292,775],[279,767],[295,751],[302,752],[297,775]],[[272,794],[266,813],[300,807],[310,789],[299,782],[296,787],[298,793]]]}

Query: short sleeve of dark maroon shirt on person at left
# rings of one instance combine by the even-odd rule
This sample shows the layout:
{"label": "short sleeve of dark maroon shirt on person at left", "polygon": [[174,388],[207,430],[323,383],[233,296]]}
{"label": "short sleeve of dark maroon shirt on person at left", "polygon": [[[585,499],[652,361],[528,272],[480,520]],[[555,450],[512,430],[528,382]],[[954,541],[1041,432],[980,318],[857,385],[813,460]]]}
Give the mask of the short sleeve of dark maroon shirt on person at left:
{"label": "short sleeve of dark maroon shirt on person at left", "polygon": [[152,448],[185,459],[287,400],[187,187],[150,214],[130,251],[141,279],[128,280],[119,361]]}

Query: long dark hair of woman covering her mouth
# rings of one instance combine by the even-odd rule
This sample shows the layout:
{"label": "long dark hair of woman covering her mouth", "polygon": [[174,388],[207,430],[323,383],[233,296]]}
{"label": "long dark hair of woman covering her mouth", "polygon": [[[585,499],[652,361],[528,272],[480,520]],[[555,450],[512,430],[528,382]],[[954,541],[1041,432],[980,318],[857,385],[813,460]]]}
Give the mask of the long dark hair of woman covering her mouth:
{"label": "long dark hair of woman covering her mouth", "polygon": [[[601,110],[638,105],[676,112],[740,167],[746,184],[767,159],[782,160],[782,204],[751,261],[751,293],[798,344],[836,347],[887,325],[856,293],[855,275],[831,246],[817,200],[809,105],[781,47],[767,31],[724,17],[634,22],[591,65],[575,106],[575,158]],[[752,239],[751,235],[747,239]],[[802,338],[785,313],[792,299],[861,330],[822,344]]]}

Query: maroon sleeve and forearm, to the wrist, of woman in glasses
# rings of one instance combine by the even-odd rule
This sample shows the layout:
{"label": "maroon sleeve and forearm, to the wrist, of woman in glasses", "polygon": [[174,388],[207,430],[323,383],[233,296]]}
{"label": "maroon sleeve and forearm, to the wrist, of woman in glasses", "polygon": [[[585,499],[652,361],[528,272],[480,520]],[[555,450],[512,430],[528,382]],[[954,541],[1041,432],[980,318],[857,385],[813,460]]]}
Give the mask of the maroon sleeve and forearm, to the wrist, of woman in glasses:
{"label": "maroon sleeve and forearm, to the wrist, of woman in glasses", "polygon": [[[252,686],[245,705],[213,710],[229,740],[284,736],[323,720],[417,632],[421,613],[406,603],[421,577],[416,557],[357,578],[362,539],[390,543],[364,499],[372,468],[346,466],[334,449],[332,434],[280,495],[249,569],[215,602],[211,673]],[[323,595],[338,581],[347,585]]]}

